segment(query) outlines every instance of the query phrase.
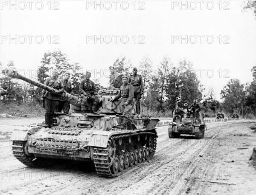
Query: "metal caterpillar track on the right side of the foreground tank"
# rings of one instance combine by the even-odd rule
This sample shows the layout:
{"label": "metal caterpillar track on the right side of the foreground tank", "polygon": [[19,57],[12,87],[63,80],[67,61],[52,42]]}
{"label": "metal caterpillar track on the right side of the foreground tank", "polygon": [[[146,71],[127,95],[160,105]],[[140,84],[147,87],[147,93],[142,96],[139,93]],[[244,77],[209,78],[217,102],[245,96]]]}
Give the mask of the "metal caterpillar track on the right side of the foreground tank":
{"label": "metal caterpillar track on the right side of the foreground tank", "polygon": [[[155,133],[151,132],[139,132],[139,133],[131,133],[131,134],[125,134],[125,135],[119,135],[119,136],[112,136],[110,138],[110,141],[114,141],[119,138],[126,138],[129,136],[138,136],[138,135],[152,135],[154,136],[154,149],[153,151],[149,154],[149,159],[153,158],[155,150],[157,148],[157,137]],[[94,148],[93,152],[93,162],[94,166],[96,168],[96,172],[99,175],[105,176],[105,177],[114,177],[117,175],[113,175],[111,173],[110,167],[111,164],[108,163],[108,148]]]}

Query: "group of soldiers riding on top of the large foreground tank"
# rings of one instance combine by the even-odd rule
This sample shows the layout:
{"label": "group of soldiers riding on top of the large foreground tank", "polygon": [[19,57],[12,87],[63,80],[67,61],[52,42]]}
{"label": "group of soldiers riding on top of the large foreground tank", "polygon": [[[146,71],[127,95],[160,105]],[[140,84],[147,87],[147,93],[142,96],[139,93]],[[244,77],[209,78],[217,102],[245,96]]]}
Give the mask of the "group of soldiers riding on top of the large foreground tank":
{"label": "group of soldiers riding on top of the large foreground tank", "polygon": [[[110,66],[110,85],[113,87],[116,78],[120,75],[117,73],[113,66]],[[134,102],[133,98],[136,99],[136,113],[140,112],[140,99],[143,95],[144,85],[142,77],[137,74],[137,68],[133,69],[133,74],[128,76],[122,76],[122,85],[120,87],[119,93],[112,98],[110,101],[113,102],[117,99],[122,98],[121,110],[124,116],[129,116],[132,111]],[[96,111],[98,109],[99,97],[98,91],[96,89],[95,83],[90,80],[91,73],[86,72],[85,79],[81,81],[79,85],[79,93],[81,96],[81,113],[86,112],[85,108],[87,102],[92,102],[91,113],[98,114]],[[45,108],[45,127],[51,127],[54,112],[63,112],[65,114],[69,113],[70,104],[68,101],[60,100],[59,94],[65,92],[73,94],[72,84],[69,81],[70,73],[67,71],[64,74],[63,79],[58,79],[58,70],[54,69],[52,71],[52,76],[47,77],[44,85],[47,85],[55,89],[55,93],[51,93],[46,90],[42,90],[41,100],[44,102]]]}

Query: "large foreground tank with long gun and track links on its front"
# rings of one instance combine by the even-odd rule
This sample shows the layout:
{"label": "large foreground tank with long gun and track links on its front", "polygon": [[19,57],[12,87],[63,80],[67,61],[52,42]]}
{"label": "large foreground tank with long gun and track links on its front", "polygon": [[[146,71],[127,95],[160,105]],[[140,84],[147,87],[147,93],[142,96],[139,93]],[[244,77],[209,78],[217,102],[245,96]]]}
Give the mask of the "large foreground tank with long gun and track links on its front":
{"label": "large foreground tank with long gun and track links on its front", "polygon": [[[50,92],[55,91],[11,69],[4,73]],[[135,114],[135,106],[130,118],[123,116],[120,113],[121,100],[109,101],[118,92],[116,88],[99,90],[99,115],[82,115],[80,96],[60,94],[60,100],[70,102],[73,113],[55,113],[52,128],[45,128],[43,124],[17,127],[11,136],[13,155],[29,167],[38,167],[52,158],[91,161],[96,172],[105,177],[118,176],[124,169],[150,160],[157,146],[159,119]]]}

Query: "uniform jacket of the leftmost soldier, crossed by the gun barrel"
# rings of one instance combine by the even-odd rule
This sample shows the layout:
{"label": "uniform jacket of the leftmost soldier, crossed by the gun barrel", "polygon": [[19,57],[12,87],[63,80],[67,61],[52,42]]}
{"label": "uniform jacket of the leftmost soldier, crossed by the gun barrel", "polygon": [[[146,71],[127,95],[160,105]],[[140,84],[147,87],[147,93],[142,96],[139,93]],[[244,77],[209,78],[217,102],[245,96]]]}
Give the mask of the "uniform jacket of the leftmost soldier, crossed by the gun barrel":
{"label": "uniform jacket of the leftmost soldier, crossed by the gun barrel", "polygon": [[[47,85],[56,90],[60,90],[61,92],[64,92],[63,84],[61,83],[61,80],[58,78],[47,77],[44,82],[44,85]],[[52,99],[52,100],[60,99],[59,94],[53,94],[44,89],[42,90],[42,97],[45,97],[47,99]]]}

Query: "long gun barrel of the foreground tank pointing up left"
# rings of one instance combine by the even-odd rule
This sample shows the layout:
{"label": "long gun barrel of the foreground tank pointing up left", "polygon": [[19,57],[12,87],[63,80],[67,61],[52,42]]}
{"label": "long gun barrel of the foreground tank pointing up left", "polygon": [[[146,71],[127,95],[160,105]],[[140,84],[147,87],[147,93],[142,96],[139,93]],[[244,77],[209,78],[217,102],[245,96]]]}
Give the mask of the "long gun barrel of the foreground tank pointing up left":
{"label": "long gun barrel of the foreground tank pointing up left", "polygon": [[[7,70],[3,70],[2,72],[6,76],[9,76],[9,77],[15,78],[15,79],[23,80],[25,82],[28,82],[28,83],[30,83],[32,85],[37,86],[38,88],[47,90],[47,91],[49,91],[51,93],[55,93],[55,91],[56,91],[55,89],[53,89],[53,88],[51,88],[51,87],[49,87],[47,85],[44,85],[43,83],[31,80],[29,78],[26,78],[25,76],[22,76],[22,75],[18,74],[17,71],[15,71],[15,70],[13,70],[11,68],[7,69]],[[73,96],[70,93],[61,93],[61,94],[59,94],[59,96],[60,96],[60,100],[68,101],[68,102],[70,102],[70,104],[75,105],[77,107],[81,106],[81,98],[78,97],[78,96]]]}

